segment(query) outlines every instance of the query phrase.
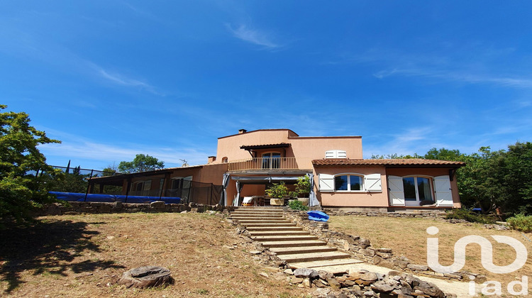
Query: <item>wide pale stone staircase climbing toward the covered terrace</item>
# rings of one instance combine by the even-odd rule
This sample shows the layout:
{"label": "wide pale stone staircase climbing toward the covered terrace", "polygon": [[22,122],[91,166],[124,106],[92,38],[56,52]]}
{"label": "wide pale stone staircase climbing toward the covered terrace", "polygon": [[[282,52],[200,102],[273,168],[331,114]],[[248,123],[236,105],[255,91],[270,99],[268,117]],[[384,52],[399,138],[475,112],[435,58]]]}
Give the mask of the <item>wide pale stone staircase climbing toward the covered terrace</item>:
{"label": "wide pale stone staircase climbing toward the covered terrace", "polygon": [[262,243],[285,260],[289,267],[325,269],[329,266],[361,263],[342,253],[318,237],[284,219],[279,207],[245,207],[231,212],[231,219],[246,228],[253,241]]}

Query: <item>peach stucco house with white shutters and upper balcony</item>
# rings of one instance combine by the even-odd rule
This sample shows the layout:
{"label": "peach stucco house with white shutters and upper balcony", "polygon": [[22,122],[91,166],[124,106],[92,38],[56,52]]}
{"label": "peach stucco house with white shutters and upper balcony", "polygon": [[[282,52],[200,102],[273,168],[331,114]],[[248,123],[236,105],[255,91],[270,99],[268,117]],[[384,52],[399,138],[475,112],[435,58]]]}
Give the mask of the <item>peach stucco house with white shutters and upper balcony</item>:
{"label": "peach stucco house with white shutters and upper balcony", "polygon": [[[272,183],[294,189],[308,176],[309,205],[353,210],[459,208],[455,171],[463,162],[423,159],[365,160],[361,136],[299,136],[289,129],[240,130],[218,138],[206,165],[99,177],[123,194],[187,197],[189,202],[240,206],[265,196]],[[197,189],[211,187],[210,194]],[[205,196],[210,196],[205,199]],[[262,201],[261,201],[262,202]],[[269,204],[265,200],[265,204]]]}

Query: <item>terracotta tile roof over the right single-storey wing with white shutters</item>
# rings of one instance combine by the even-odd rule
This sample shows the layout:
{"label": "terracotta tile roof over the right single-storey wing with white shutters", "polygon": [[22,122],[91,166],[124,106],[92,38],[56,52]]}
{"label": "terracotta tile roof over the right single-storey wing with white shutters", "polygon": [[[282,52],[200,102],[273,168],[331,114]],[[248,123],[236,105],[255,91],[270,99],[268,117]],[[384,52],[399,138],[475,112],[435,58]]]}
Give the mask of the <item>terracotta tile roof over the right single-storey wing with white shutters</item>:
{"label": "terracotta tile roof over the right single-storey wing with white shutters", "polygon": [[350,160],[345,158],[330,158],[324,160],[312,160],[315,167],[357,167],[364,165],[384,165],[384,166],[420,166],[420,167],[463,167],[465,162],[448,160],[424,160],[421,158],[391,159],[391,160]]}

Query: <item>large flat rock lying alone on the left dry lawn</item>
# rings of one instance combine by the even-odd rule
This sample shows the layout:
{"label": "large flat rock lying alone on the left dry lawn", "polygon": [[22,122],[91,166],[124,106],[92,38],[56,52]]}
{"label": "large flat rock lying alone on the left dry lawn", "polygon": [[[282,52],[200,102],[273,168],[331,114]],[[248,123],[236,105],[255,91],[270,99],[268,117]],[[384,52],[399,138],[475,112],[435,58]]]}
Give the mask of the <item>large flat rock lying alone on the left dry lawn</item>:
{"label": "large flat rock lying alone on the left dry lawn", "polygon": [[165,267],[145,266],[128,270],[123,273],[118,284],[126,287],[157,287],[173,282],[170,270]]}

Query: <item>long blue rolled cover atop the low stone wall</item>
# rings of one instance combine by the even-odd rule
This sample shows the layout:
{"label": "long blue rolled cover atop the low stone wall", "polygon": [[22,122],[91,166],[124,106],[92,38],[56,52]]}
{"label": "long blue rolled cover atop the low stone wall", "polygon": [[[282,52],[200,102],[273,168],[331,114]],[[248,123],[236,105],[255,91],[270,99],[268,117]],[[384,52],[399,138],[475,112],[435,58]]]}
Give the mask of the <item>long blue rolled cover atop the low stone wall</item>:
{"label": "long blue rolled cover atop the low stone wall", "polygon": [[[69,202],[84,202],[85,194],[77,192],[50,192],[55,194],[57,199]],[[126,196],[114,194],[87,194],[87,202],[127,202],[127,203],[151,203],[155,201],[163,201],[166,204],[179,204],[181,198],[178,197],[143,197],[143,196]]]}

